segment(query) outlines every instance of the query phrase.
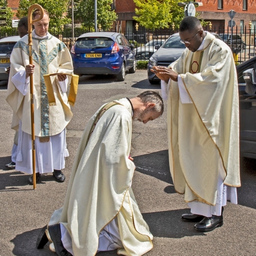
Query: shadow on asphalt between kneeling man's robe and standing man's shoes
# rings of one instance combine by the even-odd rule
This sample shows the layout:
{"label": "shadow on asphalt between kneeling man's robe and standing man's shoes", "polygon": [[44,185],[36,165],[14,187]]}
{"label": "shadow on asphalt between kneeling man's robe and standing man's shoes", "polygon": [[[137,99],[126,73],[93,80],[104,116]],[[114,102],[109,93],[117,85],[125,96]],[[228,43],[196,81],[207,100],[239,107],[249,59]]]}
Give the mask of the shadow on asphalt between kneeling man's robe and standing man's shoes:
{"label": "shadow on asphalt between kneeling man's robe and standing man's shoes", "polygon": [[194,223],[182,221],[183,213],[190,213],[190,209],[180,209],[165,212],[143,213],[153,236],[165,238],[182,238],[184,236],[205,235],[194,229]]}

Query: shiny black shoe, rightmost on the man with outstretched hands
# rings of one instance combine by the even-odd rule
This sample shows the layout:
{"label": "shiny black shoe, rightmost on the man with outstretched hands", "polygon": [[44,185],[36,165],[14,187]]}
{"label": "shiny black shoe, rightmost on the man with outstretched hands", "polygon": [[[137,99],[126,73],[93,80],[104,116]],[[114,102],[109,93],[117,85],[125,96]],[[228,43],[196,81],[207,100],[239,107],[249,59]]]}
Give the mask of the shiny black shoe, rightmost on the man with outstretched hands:
{"label": "shiny black shoe, rightmost on the man with outstretched hands", "polygon": [[213,215],[212,217],[204,217],[202,221],[194,225],[197,231],[208,232],[216,229],[216,227],[221,227],[223,225],[223,216]]}

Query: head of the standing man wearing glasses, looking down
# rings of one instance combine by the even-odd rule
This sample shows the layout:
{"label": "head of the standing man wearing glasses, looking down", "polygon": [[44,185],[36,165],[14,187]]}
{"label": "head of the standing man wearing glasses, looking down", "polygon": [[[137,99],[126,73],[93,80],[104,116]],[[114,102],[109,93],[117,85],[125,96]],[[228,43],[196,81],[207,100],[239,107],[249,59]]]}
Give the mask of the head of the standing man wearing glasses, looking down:
{"label": "head of the standing man wearing glasses, looking down", "polygon": [[180,42],[191,51],[195,52],[204,40],[205,32],[200,21],[193,16],[185,17],[180,23]]}

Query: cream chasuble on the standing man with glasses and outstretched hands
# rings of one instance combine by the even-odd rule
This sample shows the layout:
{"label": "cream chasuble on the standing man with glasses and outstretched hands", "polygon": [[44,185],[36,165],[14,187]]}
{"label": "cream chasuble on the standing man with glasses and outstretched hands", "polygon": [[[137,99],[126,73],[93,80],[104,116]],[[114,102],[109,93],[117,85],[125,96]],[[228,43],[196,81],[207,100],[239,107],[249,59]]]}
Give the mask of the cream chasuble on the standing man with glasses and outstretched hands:
{"label": "cream chasuble on the standing man with glasses and outstretched hands", "polygon": [[170,65],[180,74],[192,104],[182,104],[169,80],[169,165],[185,201],[215,205],[219,160],[224,184],[240,187],[239,101],[235,63],[226,43],[207,33],[204,49],[185,49]]}

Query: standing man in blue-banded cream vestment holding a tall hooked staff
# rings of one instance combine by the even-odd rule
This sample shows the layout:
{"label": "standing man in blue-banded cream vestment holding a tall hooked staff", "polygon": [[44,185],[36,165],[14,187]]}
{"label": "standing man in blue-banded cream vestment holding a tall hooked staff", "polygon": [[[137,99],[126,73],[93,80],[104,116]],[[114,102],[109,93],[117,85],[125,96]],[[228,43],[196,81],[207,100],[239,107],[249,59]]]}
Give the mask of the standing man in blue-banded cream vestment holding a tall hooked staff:
{"label": "standing man in blue-banded cream vestment holding a tall hooked staff", "polygon": [[[39,17],[40,11],[35,10],[32,18]],[[29,74],[34,73],[36,180],[42,173],[53,172],[54,178],[63,182],[65,176],[61,169],[65,168],[68,156],[66,126],[73,116],[66,96],[69,79],[63,74],[51,77],[56,104],[50,107],[43,76],[72,74],[73,64],[65,44],[49,34],[48,26],[49,13],[44,10],[43,19],[34,23],[32,31],[33,65],[29,64],[28,36],[15,44],[6,100],[16,114],[12,129],[19,131],[16,170],[32,174]],[[33,183],[32,176],[29,182]]]}

